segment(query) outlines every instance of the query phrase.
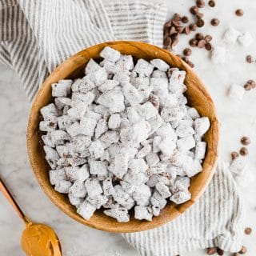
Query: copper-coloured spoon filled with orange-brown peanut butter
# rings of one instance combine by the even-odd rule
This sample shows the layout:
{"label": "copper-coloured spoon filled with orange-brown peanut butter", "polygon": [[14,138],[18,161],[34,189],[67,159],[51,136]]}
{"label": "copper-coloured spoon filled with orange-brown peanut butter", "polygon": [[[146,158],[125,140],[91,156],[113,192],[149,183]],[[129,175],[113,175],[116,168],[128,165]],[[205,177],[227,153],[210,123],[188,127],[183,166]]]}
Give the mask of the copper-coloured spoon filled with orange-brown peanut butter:
{"label": "copper-coloured spoon filled with orange-brown peanut butter", "polygon": [[0,190],[5,195],[18,216],[22,218],[26,224],[26,229],[22,233],[22,249],[26,252],[27,256],[61,256],[62,250],[58,240],[57,234],[50,226],[44,224],[35,224],[23,214],[19,208],[18,203],[7,190],[6,186],[0,178]]}

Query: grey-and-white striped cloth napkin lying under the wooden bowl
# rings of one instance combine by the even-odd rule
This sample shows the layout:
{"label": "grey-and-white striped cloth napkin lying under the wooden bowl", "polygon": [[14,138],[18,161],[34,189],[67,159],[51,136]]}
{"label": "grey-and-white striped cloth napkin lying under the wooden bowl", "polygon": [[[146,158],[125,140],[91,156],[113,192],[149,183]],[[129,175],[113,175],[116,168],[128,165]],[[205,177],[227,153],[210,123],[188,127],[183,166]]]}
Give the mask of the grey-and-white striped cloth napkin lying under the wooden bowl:
{"label": "grey-and-white striped cloth napkin lying under the wooden bowl", "polygon": [[[161,0],[0,0],[0,61],[14,69],[30,102],[50,72],[88,46],[134,40],[162,46]],[[219,162],[206,193],[185,214],[154,230],[122,234],[146,256],[242,246],[243,207],[228,167]]]}

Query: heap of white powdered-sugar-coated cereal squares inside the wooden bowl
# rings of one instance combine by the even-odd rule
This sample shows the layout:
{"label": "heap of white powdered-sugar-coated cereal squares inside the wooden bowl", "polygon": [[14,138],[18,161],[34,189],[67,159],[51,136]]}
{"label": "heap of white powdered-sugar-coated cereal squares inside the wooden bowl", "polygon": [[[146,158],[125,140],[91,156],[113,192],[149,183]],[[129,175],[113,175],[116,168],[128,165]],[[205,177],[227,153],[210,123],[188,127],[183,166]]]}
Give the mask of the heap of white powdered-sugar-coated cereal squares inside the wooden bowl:
{"label": "heap of white powdered-sugar-coated cereal squares inside the wooden bowl", "polygon": [[50,183],[83,218],[102,207],[118,222],[131,209],[151,221],[168,201],[190,200],[210,121],[186,105],[185,71],[110,47],[100,55],[83,78],[54,83],[41,110]]}

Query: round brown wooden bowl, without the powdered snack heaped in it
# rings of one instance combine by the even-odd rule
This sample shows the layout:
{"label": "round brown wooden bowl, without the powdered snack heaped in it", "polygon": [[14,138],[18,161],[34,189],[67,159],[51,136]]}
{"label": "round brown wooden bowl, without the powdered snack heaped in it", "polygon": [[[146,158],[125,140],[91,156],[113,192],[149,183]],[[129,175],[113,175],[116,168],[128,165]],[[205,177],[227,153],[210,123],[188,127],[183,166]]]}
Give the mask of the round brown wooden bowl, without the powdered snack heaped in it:
{"label": "round brown wooden bowl, without the powdered snack heaped in it", "polygon": [[[39,110],[42,106],[46,106],[52,102],[51,84],[58,82],[65,78],[78,78],[83,76],[84,68],[90,58],[98,59],[100,51],[105,46],[111,46],[120,51],[122,54],[131,54],[134,58],[144,58],[150,60],[153,58],[161,58],[170,66],[178,67],[180,70],[186,71],[186,96],[190,106],[194,106],[199,114],[210,118],[210,130],[205,134],[205,141],[207,142],[206,158],[203,162],[203,170],[200,174],[192,178],[190,192],[192,197],[190,201],[181,205],[170,203],[161,211],[158,217],[154,217],[152,222],[138,221],[134,218],[130,222],[118,223],[114,218],[110,218],[98,210],[90,218],[89,221],[83,219],[77,214],[76,209],[72,206],[65,194],[60,194],[54,190],[50,185],[49,170],[50,166],[45,160],[45,153],[42,148],[41,134],[38,131]],[[176,57],[167,50],[152,46],[143,42],[106,42],[97,46],[92,46],[86,50],[80,51],[78,54],[68,58],[65,62],[59,65],[42,84],[38,94],[34,98],[33,105],[30,110],[30,116],[27,127],[27,148],[30,158],[31,166],[34,174],[38,179],[40,186],[45,191],[47,196],[59,209],[74,218],[78,222],[87,226],[94,227],[98,230],[106,230],[110,232],[136,232],[142,230],[149,230],[166,222],[170,222],[177,218],[185,210],[194,204],[196,200],[202,195],[206,186],[208,186],[210,179],[214,174],[214,167],[218,158],[218,137],[219,125],[214,102],[210,98],[206,87],[202,81],[190,69],[181,58]]]}

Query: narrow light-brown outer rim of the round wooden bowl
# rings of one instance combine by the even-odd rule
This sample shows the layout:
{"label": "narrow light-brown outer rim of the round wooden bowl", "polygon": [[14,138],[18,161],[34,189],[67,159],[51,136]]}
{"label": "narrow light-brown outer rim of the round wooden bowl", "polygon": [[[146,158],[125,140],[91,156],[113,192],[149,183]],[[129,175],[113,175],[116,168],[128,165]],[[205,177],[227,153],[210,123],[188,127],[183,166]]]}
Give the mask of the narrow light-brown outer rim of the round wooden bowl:
{"label": "narrow light-brown outer rim of the round wooden bowl", "polygon": [[[202,188],[198,191],[198,194],[196,194],[194,196],[194,198],[191,198],[188,202],[185,202],[185,203],[179,205],[176,208],[172,207],[173,210],[174,210],[174,213],[172,213],[170,216],[168,216],[168,218],[162,219],[160,222],[154,222],[154,219],[153,219],[152,222],[147,222],[147,223],[149,223],[149,225],[146,225],[146,226],[145,225],[144,226],[140,225],[138,227],[134,227],[134,226],[133,227],[127,227],[127,226],[122,227],[122,223],[118,223],[118,226],[114,225],[113,227],[110,227],[110,226],[105,227],[104,222],[98,224],[98,223],[90,222],[90,220],[86,221],[85,219],[83,219],[77,213],[74,213],[71,210],[67,209],[66,206],[64,204],[62,204],[61,201],[54,198],[54,195],[52,193],[50,193],[50,190],[46,189],[45,182],[43,182],[43,180],[41,178],[39,178],[38,173],[40,172],[40,170],[38,170],[36,168],[36,164],[35,164],[36,155],[34,154],[34,151],[31,148],[31,141],[32,141],[32,138],[33,138],[33,133],[34,133],[34,130],[32,129],[32,120],[33,120],[33,116],[38,114],[38,111],[36,110],[37,109],[37,107],[36,107],[37,102],[38,102],[38,99],[42,97],[44,87],[46,86],[46,84],[48,84],[48,80],[50,80],[50,78],[52,76],[54,76],[54,74],[58,74],[58,72],[60,70],[62,70],[63,67],[65,67],[66,65],[69,66],[70,61],[75,61],[75,60],[78,60],[79,58],[81,58],[81,54],[86,54],[90,50],[97,49],[98,47],[115,46],[115,45],[132,45],[132,46],[135,46],[135,47],[150,46],[155,51],[158,51],[158,52],[162,51],[165,54],[168,54],[168,57],[170,59],[172,59],[174,62],[182,63],[182,66],[186,69],[186,72],[190,72],[190,74],[193,75],[193,78],[195,78],[197,80],[198,89],[202,90],[203,94],[205,94],[206,98],[208,98],[208,100],[210,101],[210,103],[212,105],[212,111],[214,113],[214,120],[211,122],[211,126],[214,126],[214,138],[216,140],[216,148],[214,149],[215,158],[214,158],[214,163],[212,164],[212,168],[211,168],[211,170],[209,170],[208,176],[204,177],[204,180],[203,180],[204,186],[202,186]],[[218,141],[219,141],[219,122],[218,122],[217,111],[216,111],[216,108],[214,106],[214,102],[213,102],[212,98],[210,97],[210,94],[209,94],[208,90],[206,90],[206,87],[204,86],[201,78],[198,78],[198,75],[195,74],[194,70],[192,70],[190,68],[190,66],[188,66],[185,62],[183,62],[176,55],[172,54],[170,51],[164,50],[164,49],[162,49],[158,46],[150,45],[146,42],[132,42],[132,41],[103,42],[103,43],[100,43],[100,44],[95,45],[95,46],[90,46],[89,48],[86,48],[84,50],[79,51],[77,54],[74,54],[70,58],[67,58],[66,61],[64,61],[60,65],[58,65],[53,70],[53,72],[46,78],[45,82],[43,82],[42,86],[39,88],[38,93],[36,94],[36,96],[34,98],[34,102],[32,103],[31,109],[30,109],[30,114],[29,114],[28,124],[27,124],[27,134],[26,134],[27,150],[28,150],[28,156],[29,156],[29,159],[30,159],[30,164],[32,166],[32,170],[33,170],[33,172],[34,172],[34,174],[35,174],[35,176],[38,180],[39,185],[42,187],[42,190],[46,193],[48,198],[50,198],[50,200],[52,202],[54,202],[54,205],[58,206],[58,208],[60,210],[62,210],[65,214],[67,214],[68,216],[70,216],[74,220],[76,220],[76,221],[78,221],[78,222],[80,222],[80,223],[82,223],[86,226],[90,226],[90,227],[93,227],[93,228],[98,229],[98,230],[109,231],[109,232],[113,232],[113,233],[130,233],[130,232],[138,232],[138,231],[143,231],[143,230],[150,230],[150,229],[156,228],[158,226],[162,226],[166,222],[172,221],[174,218],[177,218],[180,214],[184,213],[185,210],[189,209],[190,206],[192,206],[194,204],[194,202],[196,202],[198,200],[198,198],[200,198],[201,195],[204,193],[204,191],[206,190],[206,187],[209,185],[210,180],[214,175],[214,170],[215,170],[215,167],[217,165],[217,160],[218,160],[218,144],[219,144]],[[129,223],[129,222],[127,222],[127,223]]]}

